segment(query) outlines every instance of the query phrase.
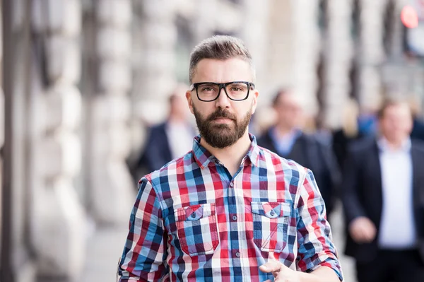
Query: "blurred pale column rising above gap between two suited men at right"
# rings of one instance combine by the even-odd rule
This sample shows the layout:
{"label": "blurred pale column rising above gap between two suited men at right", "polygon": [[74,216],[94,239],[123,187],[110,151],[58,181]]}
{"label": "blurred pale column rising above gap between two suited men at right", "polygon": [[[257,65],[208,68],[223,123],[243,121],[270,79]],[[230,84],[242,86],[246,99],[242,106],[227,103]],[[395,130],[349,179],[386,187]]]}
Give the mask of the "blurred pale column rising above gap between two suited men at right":
{"label": "blurred pale column rising above gap between two suited men at right", "polygon": [[329,0],[328,30],[324,38],[325,50],[325,98],[324,123],[330,128],[341,126],[343,105],[346,104],[351,90],[349,72],[353,57],[351,37],[351,0]]}

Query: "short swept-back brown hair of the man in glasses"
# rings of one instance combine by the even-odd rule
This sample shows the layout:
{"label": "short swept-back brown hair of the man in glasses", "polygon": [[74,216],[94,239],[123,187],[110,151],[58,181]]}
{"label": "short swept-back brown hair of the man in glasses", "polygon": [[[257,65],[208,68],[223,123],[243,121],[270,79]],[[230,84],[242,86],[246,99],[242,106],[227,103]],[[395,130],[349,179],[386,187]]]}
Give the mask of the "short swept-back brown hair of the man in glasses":
{"label": "short swept-back brown hair of the man in glasses", "polygon": [[200,42],[199,45],[194,47],[192,54],[190,54],[190,83],[192,83],[196,66],[202,59],[226,60],[232,58],[240,58],[249,63],[249,66],[252,69],[252,82],[254,82],[255,71],[252,63],[252,56],[250,55],[249,50],[245,47],[245,43],[237,37],[215,35]]}

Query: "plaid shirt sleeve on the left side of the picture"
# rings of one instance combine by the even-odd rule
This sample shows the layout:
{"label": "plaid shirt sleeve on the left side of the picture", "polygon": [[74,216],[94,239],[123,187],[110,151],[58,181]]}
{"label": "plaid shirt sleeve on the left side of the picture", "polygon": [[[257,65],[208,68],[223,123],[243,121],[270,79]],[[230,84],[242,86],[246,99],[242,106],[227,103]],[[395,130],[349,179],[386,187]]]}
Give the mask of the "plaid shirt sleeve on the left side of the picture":
{"label": "plaid shirt sleeve on the left side of the picture", "polygon": [[119,263],[120,282],[161,281],[165,278],[165,234],[160,200],[151,182],[143,178]]}

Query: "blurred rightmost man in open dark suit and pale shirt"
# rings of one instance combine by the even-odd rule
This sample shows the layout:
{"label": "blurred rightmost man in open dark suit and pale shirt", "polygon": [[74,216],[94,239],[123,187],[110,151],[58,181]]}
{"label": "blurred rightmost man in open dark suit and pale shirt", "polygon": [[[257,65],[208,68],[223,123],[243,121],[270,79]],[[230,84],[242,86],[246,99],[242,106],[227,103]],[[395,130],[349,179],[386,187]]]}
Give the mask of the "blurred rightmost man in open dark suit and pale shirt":
{"label": "blurred rightmost man in open dark suit and pale shirt", "polygon": [[378,118],[379,138],[358,141],[346,161],[346,254],[359,282],[422,282],[424,146],[409,138],[406,102],[385,102]]}

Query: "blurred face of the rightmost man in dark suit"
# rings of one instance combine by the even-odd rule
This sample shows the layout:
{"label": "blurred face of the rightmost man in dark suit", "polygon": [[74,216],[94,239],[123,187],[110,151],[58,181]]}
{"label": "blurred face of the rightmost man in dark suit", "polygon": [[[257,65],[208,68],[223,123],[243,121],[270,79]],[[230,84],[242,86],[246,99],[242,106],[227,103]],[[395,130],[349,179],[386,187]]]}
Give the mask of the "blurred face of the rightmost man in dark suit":
{"label": "blurred face of the rightmost man in dark suit", "polygon": [[388,141],[401,142],[407,139],[412,130],[412,117],[408,105],[387,107],[379,119],[379,128]]}

